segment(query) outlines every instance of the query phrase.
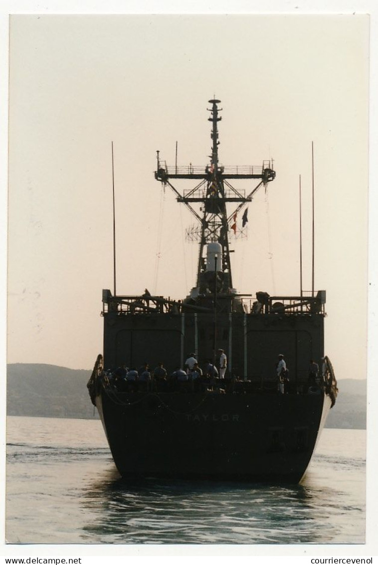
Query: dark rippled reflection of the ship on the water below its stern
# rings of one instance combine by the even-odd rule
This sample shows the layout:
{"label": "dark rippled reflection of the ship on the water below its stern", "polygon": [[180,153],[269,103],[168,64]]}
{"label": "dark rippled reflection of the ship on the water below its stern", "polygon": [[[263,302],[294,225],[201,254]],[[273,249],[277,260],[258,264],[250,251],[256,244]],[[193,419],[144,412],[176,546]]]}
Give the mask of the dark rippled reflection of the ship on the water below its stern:
{"label": "dark rippled reflection of the ship on the water below its stern", "polygon": [[[313,492],[302,485],[211,481],[124,481],[108,473],[88,485],[83,506],[97,507],[83,541],[148,544],[322,543]],[[321,493],[327,497],[327,491]],[[104,517],[106,520],[104,521]],[[320,527],[319,527],[320,526]]]}

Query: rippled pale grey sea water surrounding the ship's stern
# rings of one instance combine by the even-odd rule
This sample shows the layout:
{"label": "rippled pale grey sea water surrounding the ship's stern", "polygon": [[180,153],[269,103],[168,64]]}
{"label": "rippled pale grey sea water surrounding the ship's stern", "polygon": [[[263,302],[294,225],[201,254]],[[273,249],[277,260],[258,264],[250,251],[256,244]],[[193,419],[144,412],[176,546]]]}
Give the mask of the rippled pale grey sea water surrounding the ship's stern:
{"label": "rippled pale grey sea water surrounding the ship's stern", "polygon": [[11,544],[363,544],[364,430],[324,429],[303,484],[125,483],[99,420],[7,418]]}

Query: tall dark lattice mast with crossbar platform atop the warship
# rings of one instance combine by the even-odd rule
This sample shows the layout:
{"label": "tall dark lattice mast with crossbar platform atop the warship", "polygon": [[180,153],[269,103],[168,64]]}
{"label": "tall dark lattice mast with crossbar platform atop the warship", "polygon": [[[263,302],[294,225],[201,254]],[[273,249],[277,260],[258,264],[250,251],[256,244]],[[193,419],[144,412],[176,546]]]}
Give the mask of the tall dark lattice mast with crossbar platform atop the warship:
{"label": "tall dark lattice mast with crossbar platform atop the warship", "polygon": [[[216,259],[217,275],[222,278],[223,292],[232,293],[232,275],[230,262],[230,245],[228,234],[232,224],[235,224],[236,215],[241,209],[252,201],[254,193],[261,185],[267,185],[274,180],[275,171],[271,167],[270,161],[264,161],[262,166],[242,166],[242,167],[223,167],[219,164],[218,146],[218,122],[222,117],[219,116],[218,108],[220,100],[212,99],[208,108],[210,112],[209,121],[212,122],[212,153],[209,155],[210,164],[206,167],[168,167],[164,161],[160,160],[160,152],[157,151],[157,171],[155,178],[164,185],[168,185],[175,195],[177,201],[184,203],[195,216],[198,224],[190,230],[192,240],[199,240],[200,250],[197,266],[197,288],[201,288],[204,277],[208,271],[206,264],[205,251],[209,244],[217,243],[220,245],[221,257]],[[184,190],[181,194],[172,184],[174,179],[200,180],[194,188]],[[229,180],[256,179],[258,184],[245,196],[245,190],[239,191],[234,188]],[[237,203],[236,208],[231,214],[227,215],[226,203]],[[201,203],[200,215],[192,206],[194,203]]]}

